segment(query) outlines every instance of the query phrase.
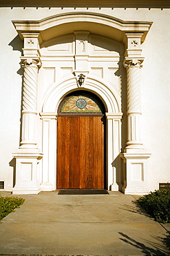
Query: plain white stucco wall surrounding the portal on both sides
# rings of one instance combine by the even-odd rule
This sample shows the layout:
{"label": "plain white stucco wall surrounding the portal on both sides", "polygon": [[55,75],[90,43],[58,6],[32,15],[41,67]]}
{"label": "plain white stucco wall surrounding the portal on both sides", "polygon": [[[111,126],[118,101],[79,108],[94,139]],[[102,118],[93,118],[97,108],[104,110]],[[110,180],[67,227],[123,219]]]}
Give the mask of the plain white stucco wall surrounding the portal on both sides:
{"label": "plain white stucco wall surrounding the portal on both sides", "polygon": [[12,152],[17,152],[20,141],[22,77],[19,71],[21,68],[19,57],[22,42],[17,36],[12,20],[39,20],[56,14],[78,11],[103,13],[125,21],[153,22],[142,44],[145,61],[142,67],[141,92],[142,140],[147,152],[151,153],[151,158],[148,159],[149,190],[155,190],[158,188],[158,183],[170,182],[169,9],[0,8],[0,181],[5,181],[6,190],[12,190],[13,167],[10,165],[14,163],[10,164],[10,161],[13,158]]}

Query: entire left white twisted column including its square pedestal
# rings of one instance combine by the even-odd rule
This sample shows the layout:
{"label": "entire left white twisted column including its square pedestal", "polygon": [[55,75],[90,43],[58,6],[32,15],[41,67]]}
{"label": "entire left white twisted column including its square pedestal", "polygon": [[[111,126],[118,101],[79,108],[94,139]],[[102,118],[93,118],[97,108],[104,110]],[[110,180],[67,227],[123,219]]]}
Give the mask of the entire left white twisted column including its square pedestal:
{"label": "entire left white twisted column including its square pedestal", "polygon": [[23,33],[24,48],[21,57],[23,72],[22,131],[16,158],[16,183],[13,194],[38,194],[38,164],[43,154],[36,145],[37,80],[41,66],[39,33]]}

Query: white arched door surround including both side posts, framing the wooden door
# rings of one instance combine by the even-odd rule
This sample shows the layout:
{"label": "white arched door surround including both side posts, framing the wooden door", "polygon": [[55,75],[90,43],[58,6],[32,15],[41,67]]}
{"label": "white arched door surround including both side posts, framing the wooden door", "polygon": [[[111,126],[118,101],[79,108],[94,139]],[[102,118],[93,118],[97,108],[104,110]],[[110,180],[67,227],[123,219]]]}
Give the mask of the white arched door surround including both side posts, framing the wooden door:
{"label": "white arched door surround including both side posts, framing the wooden door", "polygon": [[[53,84],[45,93],[43,108],[40,113],[43,127],[43,159],[41,172],[41,190],[56,190],[56,147],[57,147],[57,112],[59,104],[65,95],[78,91],[76,77],[70,75],[67,79]],[[121,118],[120,96],[116,90],[109,89],[94,77],[87,76],[81,90],[90,91],[102,100],[106,109],[106,188],[107,190],[120,190],[121,172]],[[116,158],[118,158],[116,160]],[[116,166],[114,161],[116,160]],[[118,182],[119,181],[119,182]]]}

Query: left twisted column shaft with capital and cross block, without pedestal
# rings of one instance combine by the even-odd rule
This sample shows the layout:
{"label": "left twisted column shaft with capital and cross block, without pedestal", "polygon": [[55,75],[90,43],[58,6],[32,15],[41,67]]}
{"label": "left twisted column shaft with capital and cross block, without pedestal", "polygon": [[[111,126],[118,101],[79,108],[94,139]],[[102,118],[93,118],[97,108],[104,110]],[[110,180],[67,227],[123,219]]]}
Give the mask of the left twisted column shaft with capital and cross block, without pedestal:
{"label": "left twisted column shaft with capital and cross block, without pedestal", "polygon": [[23,55],[21,57],[23,72],[22,98],[22,140],[20,148],[36,147],[36,105],[38,71],[41,67],[39,54],[39,33],[22,33]]}

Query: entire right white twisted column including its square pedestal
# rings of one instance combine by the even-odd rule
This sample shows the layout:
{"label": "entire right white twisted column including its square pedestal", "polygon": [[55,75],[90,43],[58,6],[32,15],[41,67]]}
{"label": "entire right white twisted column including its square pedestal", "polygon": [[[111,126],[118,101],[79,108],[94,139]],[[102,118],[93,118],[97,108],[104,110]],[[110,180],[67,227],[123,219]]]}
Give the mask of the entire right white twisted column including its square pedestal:
{"label": "entire right white twisted column including its square pedestal", "polygon": [[124,66],[127,69],[127,147],[120,157],[125,163],[123,192],[125,194],[146,194],[147,159],[151,156],[142,143],[142,110],[140,93],[140,69],[142,33],[126,33],[127,51]]}

